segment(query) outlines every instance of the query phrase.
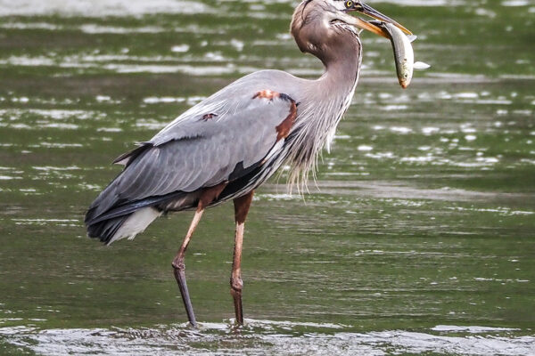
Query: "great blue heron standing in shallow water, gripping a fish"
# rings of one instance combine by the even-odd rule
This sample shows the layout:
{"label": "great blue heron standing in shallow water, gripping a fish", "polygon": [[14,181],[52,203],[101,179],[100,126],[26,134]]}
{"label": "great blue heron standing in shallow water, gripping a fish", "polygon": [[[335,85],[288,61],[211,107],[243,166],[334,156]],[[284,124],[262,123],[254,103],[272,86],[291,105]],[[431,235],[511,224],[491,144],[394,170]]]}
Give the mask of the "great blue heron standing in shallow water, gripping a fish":
{"label": "great blue heron standing in shallow water, gripping a fish", "polygon": [[283,163],[290,182],[304,182],[317,154],[333,139],[350,106],[362,60],[359,33],[385,36],[360,12],[410,32],[360,1],[306,0],[292,17],[300,51],[325,65],[316,80],[279,70],[238,79],[185,111],[150,141],[117,158],[122,173],[86,214],[88,235],[105,244],[133,239],[164,213],[195,209],[172,266],[190,323],[195,316],[185,283],[185,250],[204,209],[233,199],[235,249],[230,279],[235,317],[243,324],[243,226],[253,191]]}

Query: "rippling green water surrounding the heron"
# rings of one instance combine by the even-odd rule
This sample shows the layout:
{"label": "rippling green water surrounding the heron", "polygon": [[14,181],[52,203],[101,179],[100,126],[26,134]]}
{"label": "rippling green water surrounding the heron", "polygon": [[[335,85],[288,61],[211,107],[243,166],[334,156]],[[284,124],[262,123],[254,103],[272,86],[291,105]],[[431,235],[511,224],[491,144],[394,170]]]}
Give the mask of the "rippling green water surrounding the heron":
{"label": "rippling green water surrounding the heron", "polygon": [[200,330],[170,267],[191,213],[111,247],[83,215],[113,158],[224,85],[321,75],[294,3],[41,3],[0,1],[0,353],[535,353],[533,2],[369,2],[432,68],[402,90],[390,44],[362,36],[317,183],[291,197],[283,172],[253,202],[241,331],[232,205],[186,256]]}

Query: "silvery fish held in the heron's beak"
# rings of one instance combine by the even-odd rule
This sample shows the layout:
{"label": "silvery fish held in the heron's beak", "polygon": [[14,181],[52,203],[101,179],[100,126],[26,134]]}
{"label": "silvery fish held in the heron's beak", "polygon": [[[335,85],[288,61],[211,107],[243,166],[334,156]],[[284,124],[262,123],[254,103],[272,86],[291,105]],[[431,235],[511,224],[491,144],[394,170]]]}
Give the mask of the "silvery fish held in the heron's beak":
{"label": "silvery fish held in the heron's beak", "polygon": [[399,85],[406,89],[410,85],[414,69],[428,69],[430,67],[429,64],[422,61],[415,62],[415,53],[411,42],[416,40],[416,36],[406,36],[399,28],[388,22],[373,22],[374,25],[382,28],[383,33],[391,39]]}

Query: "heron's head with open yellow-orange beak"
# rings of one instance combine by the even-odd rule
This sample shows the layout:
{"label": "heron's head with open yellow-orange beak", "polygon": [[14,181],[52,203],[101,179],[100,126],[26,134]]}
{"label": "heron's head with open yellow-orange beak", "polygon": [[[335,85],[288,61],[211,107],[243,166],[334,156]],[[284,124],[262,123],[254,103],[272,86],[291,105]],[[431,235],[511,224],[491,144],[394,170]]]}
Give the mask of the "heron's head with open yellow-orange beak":
{"label": "heron's head with open yellow-orange beak", "polygon": [[373,23],[351,16],[350,12],[359,12],[376,20],[390,22],[408,35],[411,32],[383,13],[374,10],[361,1],[354,0],[304,0],[293,12],[291,31],[300,50],[320,54],[322,47],[339,37],[345,29],[351,36],[358,36],[366,29],[376,35],[390,38]]}

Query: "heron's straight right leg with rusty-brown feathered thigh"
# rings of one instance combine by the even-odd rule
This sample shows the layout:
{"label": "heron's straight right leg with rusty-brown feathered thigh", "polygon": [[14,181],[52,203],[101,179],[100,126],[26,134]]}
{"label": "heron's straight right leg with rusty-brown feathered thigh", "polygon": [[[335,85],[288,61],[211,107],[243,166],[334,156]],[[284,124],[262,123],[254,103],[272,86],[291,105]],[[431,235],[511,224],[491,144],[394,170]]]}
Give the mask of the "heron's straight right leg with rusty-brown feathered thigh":
{"label": "heron's straight right leg with rusty-brown feathered thigh", "polygon": [[252,195],[254,191],[251,191],[247,195],[234,199],[235,204],[235,249],[232,262],[232,273],[230,276],[230,294],[232,295],[235,303],[235,315],[236,323],[243,325],[243,307],[242,307],[242,247],[243,247],[243,230],[245,226],[245,218],[249,213],[251,206]]}

